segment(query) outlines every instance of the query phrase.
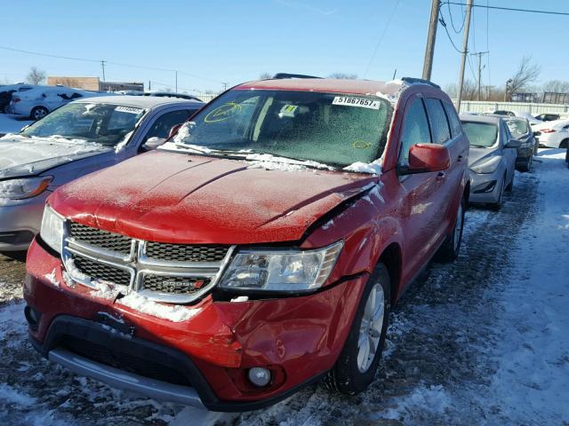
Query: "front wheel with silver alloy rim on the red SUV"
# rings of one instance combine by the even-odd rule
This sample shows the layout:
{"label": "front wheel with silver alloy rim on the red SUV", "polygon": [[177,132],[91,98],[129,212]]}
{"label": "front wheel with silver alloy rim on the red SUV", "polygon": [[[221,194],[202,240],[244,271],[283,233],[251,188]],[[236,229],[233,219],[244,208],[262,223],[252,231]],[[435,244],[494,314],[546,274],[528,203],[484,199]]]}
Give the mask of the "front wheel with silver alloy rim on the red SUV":
{"label": "front wheel with silver alloy rim on the red SUV", "polygon": [[[329,390],[345,395],[356,395],[373,382],[389,326],[389,312],[391,311],[389,286],[388,268],[385,264],[377,264],[373,274],[365,284],[348,339],[336,364],[324,379],[325,387]],[[373,306],[373,300],[375,306]],[[382,303],[379,302],[380,300]],[[378,302],[381,304],[382,312],[379,311],[381,308]],[[373,319],[375,316],[377,318]],[[381,316],[381,324],[379,323],[379,316]],[[372,320],[366,320],[368,318]],[[373,356],[369,350],[366,351],[365,349],[366,346],[369,348],[371,344],[375,346]],[[365,356],[366,352],[367,357]]]}

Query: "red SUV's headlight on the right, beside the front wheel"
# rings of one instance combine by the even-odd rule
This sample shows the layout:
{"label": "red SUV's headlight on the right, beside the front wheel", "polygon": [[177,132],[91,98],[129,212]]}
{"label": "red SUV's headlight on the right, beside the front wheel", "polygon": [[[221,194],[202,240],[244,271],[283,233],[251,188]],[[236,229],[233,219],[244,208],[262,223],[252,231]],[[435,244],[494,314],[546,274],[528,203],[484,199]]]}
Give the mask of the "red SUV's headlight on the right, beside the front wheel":
{"label": "red SUV's headlight on the right, beside the front wheel", "polygon": [[241,250],[223,274],[220,288],[292,293],[320,288],[342,246],[339,241],[317,250]]}

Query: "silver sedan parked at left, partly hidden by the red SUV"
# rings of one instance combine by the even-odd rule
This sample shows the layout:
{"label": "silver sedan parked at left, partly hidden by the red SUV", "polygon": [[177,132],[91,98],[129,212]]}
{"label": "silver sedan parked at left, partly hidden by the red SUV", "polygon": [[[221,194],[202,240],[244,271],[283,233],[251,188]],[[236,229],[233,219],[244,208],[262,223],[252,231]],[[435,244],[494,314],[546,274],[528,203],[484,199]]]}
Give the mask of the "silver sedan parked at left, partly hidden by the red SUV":
{"label": "silver sedan parked at left, partly hidden by the red SUV", "polygon": [[28,248],[57,187],[160,145],[203,105],[138,96],[82,99],[0,138],[0,251]]}

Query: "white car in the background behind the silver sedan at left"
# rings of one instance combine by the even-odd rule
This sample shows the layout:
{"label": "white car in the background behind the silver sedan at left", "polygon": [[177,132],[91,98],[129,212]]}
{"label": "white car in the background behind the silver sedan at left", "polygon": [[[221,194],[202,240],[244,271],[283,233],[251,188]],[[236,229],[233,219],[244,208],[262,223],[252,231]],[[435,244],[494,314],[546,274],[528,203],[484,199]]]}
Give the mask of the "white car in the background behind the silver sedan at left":
{"label": "white car in the background behind the silver sedan at left", "polygon": [[63,86],[36,86],[29,91],[13,93],[7,112],[8,114],[26,115],[33,120],[39,120],[45,114],[68,104],[72,100],[92,96],[108,96],[108,93],[82,91]]}

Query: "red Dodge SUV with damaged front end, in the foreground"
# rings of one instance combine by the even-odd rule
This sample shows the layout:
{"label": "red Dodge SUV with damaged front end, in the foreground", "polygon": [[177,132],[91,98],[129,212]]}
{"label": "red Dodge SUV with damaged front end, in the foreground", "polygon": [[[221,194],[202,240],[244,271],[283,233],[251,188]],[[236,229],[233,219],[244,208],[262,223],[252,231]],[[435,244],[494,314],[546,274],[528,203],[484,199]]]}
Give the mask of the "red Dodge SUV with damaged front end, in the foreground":
{"label": "red Dodge SUV with damaged front end, in the foreground", "polygon": [[25,313],[45,357],[153,398],[268,406],[372,382],[390,307],[458,256],[469,143],[432,83],[276,78],[47,201]]}

